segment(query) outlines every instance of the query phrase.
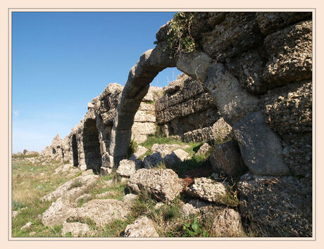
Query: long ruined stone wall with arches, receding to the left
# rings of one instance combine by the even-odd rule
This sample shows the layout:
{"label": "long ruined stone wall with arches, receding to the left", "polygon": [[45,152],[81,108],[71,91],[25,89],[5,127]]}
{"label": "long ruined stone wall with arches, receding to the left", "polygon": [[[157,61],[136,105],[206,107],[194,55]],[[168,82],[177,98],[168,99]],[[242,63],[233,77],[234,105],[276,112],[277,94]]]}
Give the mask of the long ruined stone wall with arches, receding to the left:
{"label": "long ruined stone wall with arches, receding to the left", "polygon": [[[164,49],[168,30],[170,22],[125,87],[109,84],[72,132],[56,136],[43,153],[107,174],[127,158],[131,139],[140,143],[157,129],[183,141],[225,141],[232,132],[235,144],[216,146],[211,158],[232,151],[247,167],[237,183],[242,217],[287,223],[310,236],[311,13],[195,13],[199,49],[175,57]],[[149,87],[173,67],[184,74],[163,89]]]}

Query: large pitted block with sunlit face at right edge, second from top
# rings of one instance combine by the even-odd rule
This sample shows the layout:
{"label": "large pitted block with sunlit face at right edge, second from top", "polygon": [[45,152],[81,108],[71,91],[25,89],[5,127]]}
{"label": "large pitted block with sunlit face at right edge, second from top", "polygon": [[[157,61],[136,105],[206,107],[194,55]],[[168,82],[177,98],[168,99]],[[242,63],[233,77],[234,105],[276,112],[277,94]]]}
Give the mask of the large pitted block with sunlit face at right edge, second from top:
{"label": "large pitted block with sunlit face at right edge, second from top", "polygon": [[312,77],[312,26],[307,20],[264,40],[268,62],[263,78],[273,87]]}

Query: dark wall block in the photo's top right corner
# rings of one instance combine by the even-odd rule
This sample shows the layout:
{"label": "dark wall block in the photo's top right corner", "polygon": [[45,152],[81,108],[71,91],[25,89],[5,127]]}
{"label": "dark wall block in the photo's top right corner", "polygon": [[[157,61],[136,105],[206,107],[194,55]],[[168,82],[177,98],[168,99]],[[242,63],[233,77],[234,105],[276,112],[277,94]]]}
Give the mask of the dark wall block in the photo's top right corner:
{"label": "dark wall block in the photo's top right corner", "polygon": [[263,34],[270,34],[284,27],[311,19],[311,12],[257,12],[256,21]]}

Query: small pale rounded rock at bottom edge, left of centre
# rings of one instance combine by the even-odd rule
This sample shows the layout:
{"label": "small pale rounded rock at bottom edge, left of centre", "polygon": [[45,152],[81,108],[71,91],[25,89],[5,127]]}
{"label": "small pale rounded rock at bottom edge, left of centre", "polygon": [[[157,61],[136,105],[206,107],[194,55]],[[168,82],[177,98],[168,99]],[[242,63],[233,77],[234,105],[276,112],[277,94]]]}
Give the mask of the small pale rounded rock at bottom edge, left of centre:
{"label": "small pale rounded rock at bottom edge, left of centre", "polygon": [[158,237],[153,222],[147,217],[137,218],[133,224],[126,226],[124,233],[124,237]]}

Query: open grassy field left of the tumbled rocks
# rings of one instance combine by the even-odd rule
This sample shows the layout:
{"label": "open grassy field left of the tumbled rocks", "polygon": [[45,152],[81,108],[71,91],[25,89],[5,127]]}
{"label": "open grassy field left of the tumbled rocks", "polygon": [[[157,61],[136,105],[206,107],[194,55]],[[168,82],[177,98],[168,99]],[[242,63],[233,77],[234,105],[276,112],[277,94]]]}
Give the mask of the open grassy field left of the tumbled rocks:
{"label": "open grassy field left of the tumbled rocks", "polygon": [[[41,164],[42,161],[32,164],[24,157],[12,163],[12,210],[20,211],[20,214],[12,219],[13,237],[29,237],[32,231],[36,232],[34,236],[37,237],[60,235],[61,226],[45,228],[42,225],[38,215],[49,208],[51,202],[42,202],[40,198],[69,179],[60,174],[53,174],[60,162]],[[21,231],[21,226],[27,222],[32,222],[32,230]]]}

